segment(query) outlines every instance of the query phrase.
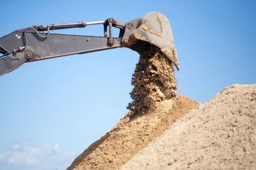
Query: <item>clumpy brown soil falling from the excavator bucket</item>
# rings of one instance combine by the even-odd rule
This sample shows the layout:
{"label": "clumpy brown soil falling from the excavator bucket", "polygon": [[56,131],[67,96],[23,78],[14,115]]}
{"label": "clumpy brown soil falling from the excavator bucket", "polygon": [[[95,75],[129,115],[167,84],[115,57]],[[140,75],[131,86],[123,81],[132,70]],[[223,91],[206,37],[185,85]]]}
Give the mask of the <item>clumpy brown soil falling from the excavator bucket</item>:
{"label": "clumpy brown soil falling from the excavator bucket", "polygon": [[156,102],[176,96],[173,63],[155,46],[142,46],[140,60],[132,75],[133,101],[127,109],[138,114],[156,108]]}

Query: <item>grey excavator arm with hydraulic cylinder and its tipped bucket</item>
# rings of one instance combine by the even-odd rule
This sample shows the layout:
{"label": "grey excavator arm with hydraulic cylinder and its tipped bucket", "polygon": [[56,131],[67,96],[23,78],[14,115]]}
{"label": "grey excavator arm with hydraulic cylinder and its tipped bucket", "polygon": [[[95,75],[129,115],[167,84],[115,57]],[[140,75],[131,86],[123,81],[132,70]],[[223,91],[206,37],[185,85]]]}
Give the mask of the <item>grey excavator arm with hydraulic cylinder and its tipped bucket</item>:
{"label": "grey excavator arm with hydraulic cylinder and its tipped bucket", "polygon": [[[58,29],[85,28],[102,24],[103,36],[65,35],[50,33]],[[113,27],[119,36],[113,37]],[[23,63],[75,54],[127,47],[141,53],[141,44],[158,47],[179,70],[169,20],[159,12],[149,12],[141,18],[120,22],[113,18],[94,22],[72,22],[31,26],[15,30],[0,38],[0,75],[18,69]]]}

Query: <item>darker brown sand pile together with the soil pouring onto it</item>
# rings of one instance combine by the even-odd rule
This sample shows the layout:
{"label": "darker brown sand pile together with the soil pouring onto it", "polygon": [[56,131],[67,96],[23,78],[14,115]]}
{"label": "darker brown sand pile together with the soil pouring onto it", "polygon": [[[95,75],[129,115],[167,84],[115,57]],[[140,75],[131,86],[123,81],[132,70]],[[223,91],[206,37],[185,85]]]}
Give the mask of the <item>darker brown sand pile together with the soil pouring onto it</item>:
{"label": "darker brown sand pile together with the soil pouring onto it", "polygon": [[68,170],[117,169],[198,107],[196,101],[177,95],[173,63],[158,48],[142,44],[140,49],[132,77],[130,112],[79,155]]}

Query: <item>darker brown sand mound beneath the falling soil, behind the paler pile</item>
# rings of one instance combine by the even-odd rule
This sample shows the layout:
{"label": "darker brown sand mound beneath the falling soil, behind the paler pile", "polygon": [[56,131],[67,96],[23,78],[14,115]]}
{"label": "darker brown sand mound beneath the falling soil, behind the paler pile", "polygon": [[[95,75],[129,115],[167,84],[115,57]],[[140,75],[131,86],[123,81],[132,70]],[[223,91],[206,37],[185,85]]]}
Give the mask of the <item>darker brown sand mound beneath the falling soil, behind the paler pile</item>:
{"label": "darker brown sand mound beneath the falling soil, behind the paler pile", "polygon": [[[68,170],[117,169],[163,134],[173,122],[198,106],[185,96],[166,100],[155,112],[124,117],[114,128],[92,143]],[[162,107],[162,108],[161,108]]]}

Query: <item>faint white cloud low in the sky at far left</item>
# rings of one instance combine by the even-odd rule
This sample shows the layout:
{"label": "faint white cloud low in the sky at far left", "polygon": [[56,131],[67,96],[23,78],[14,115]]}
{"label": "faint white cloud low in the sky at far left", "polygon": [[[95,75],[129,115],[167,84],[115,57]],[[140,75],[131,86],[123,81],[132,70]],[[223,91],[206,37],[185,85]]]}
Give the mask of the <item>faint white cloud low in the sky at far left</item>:
{"label": "faint white cloud low in the sky at far left", "polygon": [[0,163],[18,167],[41,165],[47,156],[59,150],[59,143],[43,143],[38,147],[13,145],[10,151],[0,153]]}

